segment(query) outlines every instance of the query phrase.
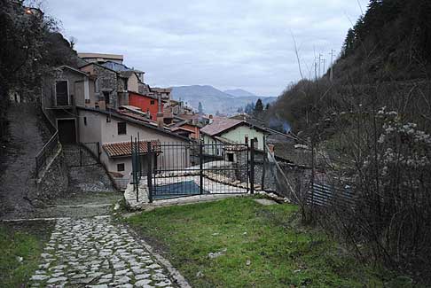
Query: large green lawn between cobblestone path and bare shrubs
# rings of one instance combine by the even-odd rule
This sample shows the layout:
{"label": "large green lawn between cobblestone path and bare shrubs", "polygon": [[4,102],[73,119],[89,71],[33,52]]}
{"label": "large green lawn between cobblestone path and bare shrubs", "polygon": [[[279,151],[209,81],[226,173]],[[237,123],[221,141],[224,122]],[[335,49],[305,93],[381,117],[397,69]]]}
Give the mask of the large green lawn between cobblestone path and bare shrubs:
{"label": "large green lawn between cobblestone path and bare shrubs", "polygon": [[296,206],[229,198],[125,221],[194,287],[383,286],[380,270],[361,265],[322,231],[302,227]]}

